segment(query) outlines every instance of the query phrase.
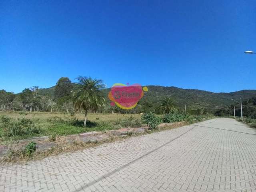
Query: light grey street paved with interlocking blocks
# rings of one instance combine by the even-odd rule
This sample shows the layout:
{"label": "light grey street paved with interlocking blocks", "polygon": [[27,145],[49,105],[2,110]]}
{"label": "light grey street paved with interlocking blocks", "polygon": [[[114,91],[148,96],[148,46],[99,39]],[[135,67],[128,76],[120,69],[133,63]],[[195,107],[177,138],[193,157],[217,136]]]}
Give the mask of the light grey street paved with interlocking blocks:
{"label": "light grey street paved with interlocking blocks", "polygon": [[0,191],[256,191],[256,131],[217,118],[2,165]]}

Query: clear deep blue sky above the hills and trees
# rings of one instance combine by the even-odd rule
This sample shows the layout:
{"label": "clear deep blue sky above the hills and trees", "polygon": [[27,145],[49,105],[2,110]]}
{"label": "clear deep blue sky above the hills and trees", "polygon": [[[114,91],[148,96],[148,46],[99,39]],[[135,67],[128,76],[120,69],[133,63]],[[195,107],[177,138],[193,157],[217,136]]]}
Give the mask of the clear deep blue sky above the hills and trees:
{"label": "clear deep blue sky above the hills and trees", "polygon": [[0,1],[0,89],[78,75],[212,92],[256,89],[254,0]]}

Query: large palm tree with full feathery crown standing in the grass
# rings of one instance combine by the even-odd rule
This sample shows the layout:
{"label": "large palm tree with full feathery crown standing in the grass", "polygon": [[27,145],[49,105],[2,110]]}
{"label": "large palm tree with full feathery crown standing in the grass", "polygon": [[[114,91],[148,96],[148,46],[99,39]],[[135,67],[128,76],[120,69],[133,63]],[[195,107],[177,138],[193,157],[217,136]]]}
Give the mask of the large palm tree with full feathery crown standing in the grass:
{"label": "large palm tree with full feathery crown standing in the grass", "polygon": [[74,90],[72,90],[72,98],[75,108],[84,109],[84,127],[86,126],[86,118],[88,110],[104,106],[105,99],[102,89],[105,88],[102,80],[92,79],[91,77],[79,76]]}

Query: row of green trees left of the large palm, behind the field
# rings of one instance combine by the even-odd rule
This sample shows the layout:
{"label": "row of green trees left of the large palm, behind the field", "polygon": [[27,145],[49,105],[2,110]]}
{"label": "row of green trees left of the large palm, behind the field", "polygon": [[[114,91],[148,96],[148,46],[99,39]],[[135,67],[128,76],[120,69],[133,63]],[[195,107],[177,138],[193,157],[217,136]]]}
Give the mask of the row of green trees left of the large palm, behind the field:
{"label": "row of green trees left of the large palm, behind the field", "polygon": [[54,90],[54,96],[40,94],[39,87],[25,88],[21,93],[14,94],[0,90],[0,110],[17,111],[71,111],[74,110],[71,92],[72,83],[67,77],[58,80]]}

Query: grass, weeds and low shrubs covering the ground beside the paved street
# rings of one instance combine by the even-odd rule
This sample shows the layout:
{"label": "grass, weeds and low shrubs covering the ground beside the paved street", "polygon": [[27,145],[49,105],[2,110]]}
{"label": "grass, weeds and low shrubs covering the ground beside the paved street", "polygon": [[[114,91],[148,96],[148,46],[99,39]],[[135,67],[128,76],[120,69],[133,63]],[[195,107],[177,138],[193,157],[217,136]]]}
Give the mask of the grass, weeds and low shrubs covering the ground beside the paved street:
{"label": "grass, weeds and low shrubs covering the ground beside the paved street", "polygon": [[[13,115],[13,113],[11,113]],[[8,115],[8,114],[6,114]],[[48,114],[49,115],[49,114]],[[56,114],[54,114],[56,115]],[[59,114],[63,116],[63,114]],[[94,114],[88,114],[94,116]],[[83,120],[77,120],[73,118],[63,119],[58,116],[54,116],[52,118],[43,120],[30,120],[26,118],[21,119],[13,119],[7,116],[1,116],[0,118],[0,130],[2,131],[2,143],[8,142],[9,150],[8,153],[2,158],[2,162],[18,162],[18,161],[27,161],[33,159],[44,158],[49,155],[60,154],[62,152],[74,152],[76,150],[81,150],[88,147],[98,146],[103,143],[113,142],[116,140],[122,140],[124,138],[140,136],[142,134],[150,134],[162,130],[169,130],[173,128],[178,128],[180,126],[188,125],[194,122],[208,120],[214,118],[212,115],[201,115],[201,116],[190,116],[185,114],[165,114],[165,115],[156,115],[153,113],[143,114],[143,115],[124,115],[124,114],[111,114],[111,115],[103,115],[98,114],[97,116],[111,116],[114,115],[115,118],[119,117],[116,120],[106,122],[91,122],[95,126],[84,128],[83,124],[79,125]],[[99,120],[99,117],[96,117],[95,120]],[[106,117],[105,117],[106,118]],[[113,116],[112,116],[113,118]],[[78,123],[79,122],[79,123]],[[165,122],[163,126],[159,126],[162,122]],[[18,125],[18,129],[17,129]],[[28,132],[33,126],[39,128],[39,132]],[[47,125],[47,126],[46,126]],[[145,132],[136,133],[136,132],[126,132],[123,136],[115,136],[111,133],[108,133],[108,130],[124,128],[124,127],[141,127],[148,126]],[[54,128],[52,128],[53,126]],[[100,141],[87,141],[83,142],[79,138],[74,140],[73,142],[67,142],[66,134],[70,126],[74,127],[74,133],[82,133],[86,131],[101,131],[102,134],[108,134],[108,138]],[[8,130],[4,128],[8,127]],[[44,130],[46,128],[46,130]],[[37,152],[36,146],[37,144],[32,140],[28,142],[28,144],[24,146],[19,146],[18,139],[21,138],[30,138],[32,136],[42,136],[48,135],[49,142],[56,143],[55,146],[50,148],[49,150],[39,151]]]}

